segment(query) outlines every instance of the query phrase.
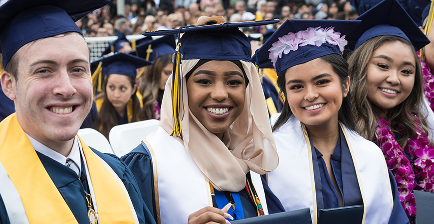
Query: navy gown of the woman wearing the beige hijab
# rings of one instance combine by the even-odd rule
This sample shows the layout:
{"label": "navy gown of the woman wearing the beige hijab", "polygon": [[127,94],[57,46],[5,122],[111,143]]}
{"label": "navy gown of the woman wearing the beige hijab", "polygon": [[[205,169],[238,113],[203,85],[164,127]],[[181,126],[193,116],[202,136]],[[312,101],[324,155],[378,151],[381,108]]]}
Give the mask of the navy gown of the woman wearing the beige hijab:
{"label": "navy gown of the woman wearing the beige hijab", "polygon": [[[148,208],[153,209],[154,217],[156,217],[154,198],[154,174],[150,152],[145,147],[143,147],[142,144],[140,144],[130,153],[122,156],[121,159],[124,160],[128,167],[130,167],[131,171],[136,177],[140,191],[142,192],[143,201],[145,201]],[[280,201],[278,201],[277,197],[274,196],[274,194],[269,190],[264,180],[262,180],[262,183],[264,185],[267,206],[270,206],[271,203],[272,207],[280,208],[280,210],[277,209],[276,211],[283,212],[284,209],[283,206],[280,204]],[[256,207],[249,199],[246,188],[244,188],[238,193],[243,207],[244,218],[256,217]],[[269,199],[270,202],[268,202]],[[274,205],[274,203],[278,203],[279,205]]]}

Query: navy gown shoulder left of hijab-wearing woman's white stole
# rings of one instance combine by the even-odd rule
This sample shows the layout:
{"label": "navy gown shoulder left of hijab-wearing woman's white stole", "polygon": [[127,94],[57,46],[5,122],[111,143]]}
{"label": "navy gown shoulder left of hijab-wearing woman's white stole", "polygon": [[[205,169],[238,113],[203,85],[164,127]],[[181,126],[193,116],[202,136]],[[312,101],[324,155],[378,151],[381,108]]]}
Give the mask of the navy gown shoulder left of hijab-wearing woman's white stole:
{"label": "navy gown shoulder left of hijab-wearing woman's white stole", "polygon": [[155,218],[157,211],[155,210],[154,199],[154,171],[149,151],[143,144],[140,144],[131,152],[122,156],[121,159],[127,164],[136,178],[142,199]]}

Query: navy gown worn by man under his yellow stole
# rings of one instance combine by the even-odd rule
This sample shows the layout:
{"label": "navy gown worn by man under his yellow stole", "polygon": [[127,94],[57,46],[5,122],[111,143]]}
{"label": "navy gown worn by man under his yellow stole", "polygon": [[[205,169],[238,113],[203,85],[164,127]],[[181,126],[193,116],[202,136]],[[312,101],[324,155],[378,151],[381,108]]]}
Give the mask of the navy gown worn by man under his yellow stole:
{"label": "navy gown worn by man under his yellow stole", "polygon": [[[119,158],[111,154],[103,154],[92,149],[101,157],[119,176],[128,191],[131,203],[136,210],[137,218],[140,224],[155,224],[155,221],[146,205],[143,203],[139,188],[136,184],[133,174],[128,167]],[[57,161],[37,152],[45,170],[59,190],[66,204],[71,209],[72,214],[79,224],[89,224],[87,216],[87,202],[85,199],[85,188],[78,175],[70,168]],[[82,169],[81,175],[85,175]],[[109,187],[109,186],[107,186]],[[3,200],[0,196],[0,224],[10,224],[9,218],[4,207]]]}

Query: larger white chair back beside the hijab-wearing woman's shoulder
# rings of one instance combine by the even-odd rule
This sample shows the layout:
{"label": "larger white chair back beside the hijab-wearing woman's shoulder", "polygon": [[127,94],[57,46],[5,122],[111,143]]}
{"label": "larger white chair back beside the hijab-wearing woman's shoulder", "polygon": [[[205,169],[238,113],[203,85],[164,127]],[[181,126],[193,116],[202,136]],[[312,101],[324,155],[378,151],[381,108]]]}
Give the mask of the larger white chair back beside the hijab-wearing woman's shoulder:
{"label": "larger white chair back beside the hijab-wearing woman's shoulder", "polygon": [[150,119],[112,127],[109,140],[115,155],[121,157],[133,150],[144,137],[157,130],[158,122]]}

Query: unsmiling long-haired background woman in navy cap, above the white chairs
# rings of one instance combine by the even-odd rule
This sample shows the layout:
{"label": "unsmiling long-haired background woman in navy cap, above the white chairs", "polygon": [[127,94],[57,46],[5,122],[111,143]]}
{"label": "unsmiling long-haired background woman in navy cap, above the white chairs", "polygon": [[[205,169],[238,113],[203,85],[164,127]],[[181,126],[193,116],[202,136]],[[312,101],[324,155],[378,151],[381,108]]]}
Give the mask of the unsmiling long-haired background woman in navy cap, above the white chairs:
{"label": "unsmiling long-haired background woman in navy cap, above the white chairs", "polygon": [[102,93],[95,100],[98,117],[93,128],[108,139],[112,127],[145,119],[136,96],[136,68],[151,63],[124,53],[114,54],[101,61],[106,76]]}

